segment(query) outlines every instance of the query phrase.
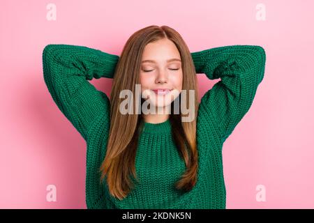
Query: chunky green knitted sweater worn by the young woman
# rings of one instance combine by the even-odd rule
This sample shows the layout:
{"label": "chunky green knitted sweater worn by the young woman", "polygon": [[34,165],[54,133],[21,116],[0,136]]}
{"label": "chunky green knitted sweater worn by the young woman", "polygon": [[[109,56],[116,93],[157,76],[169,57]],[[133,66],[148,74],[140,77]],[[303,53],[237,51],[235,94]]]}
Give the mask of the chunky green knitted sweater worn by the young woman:
{"label": "chunky green knitted sweater worn by the young woman", "polygon": [[144,123],[135,168],[140,183],[123,199],[100,185],[110,128],[110,100],[89,80],[113,78],[119,56],[77,45],[50,44],[43,49],[43,77],[61,112],[87,142],[87,208],[225,208],[222,148],[251,107],[264,77],[266,56],[256,45],[230,45],[191,53],[196,73],[220,81],[207,91],[197,115],[197,183],[179,192],[174,183],[185,171],[172,141],[169,119]]}

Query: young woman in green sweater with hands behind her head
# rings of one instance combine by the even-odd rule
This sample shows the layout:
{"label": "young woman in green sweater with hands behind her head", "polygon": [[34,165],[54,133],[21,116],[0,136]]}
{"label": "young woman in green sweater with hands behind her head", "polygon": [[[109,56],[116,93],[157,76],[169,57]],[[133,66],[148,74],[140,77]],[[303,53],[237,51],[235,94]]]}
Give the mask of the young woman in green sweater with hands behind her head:
{"label": "young woman in green sweater with hands behind her head", "polygon": [[[169,26],[136,31],[120,57],[47,45],[47,89],[87,141],[87,208],[225,208],[223,143],[251,107],[265,61],[257,45],[190,53]],[[221,79],[200,103],[197,73]],[[100,77],[113,78],[110,100],[88,82]],[[128,114],[121,112],[123,91],[133,95]],[[180,98],[192,99],[186,103],[195,114],[190,121],[182,121],[181,109],[174,114],[174,102],[184,102]],[[144,102],[170,114],[135,112]]]}

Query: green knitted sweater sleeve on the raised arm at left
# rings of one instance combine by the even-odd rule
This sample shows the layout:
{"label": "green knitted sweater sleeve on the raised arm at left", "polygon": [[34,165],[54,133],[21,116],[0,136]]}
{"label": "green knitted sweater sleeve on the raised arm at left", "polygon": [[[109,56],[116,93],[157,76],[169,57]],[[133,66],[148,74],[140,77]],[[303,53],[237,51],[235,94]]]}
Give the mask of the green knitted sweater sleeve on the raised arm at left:
{"label": "green knitted sweater sleeve on the raised arm at left", "polygon": [[100,112],[110,112],[107,95],[88,80],[113,78],[119,56],[77,45],[46,45],[43,77],[52,99],[86,140]]}

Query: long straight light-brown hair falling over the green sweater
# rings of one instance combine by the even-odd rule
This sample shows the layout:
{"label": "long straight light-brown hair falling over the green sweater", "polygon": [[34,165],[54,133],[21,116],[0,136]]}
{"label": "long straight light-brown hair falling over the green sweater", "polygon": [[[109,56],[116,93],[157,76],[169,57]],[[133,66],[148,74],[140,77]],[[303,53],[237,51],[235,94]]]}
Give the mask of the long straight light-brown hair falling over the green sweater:
{"label": "long straight light-brown hair falling over the green sweater", "polygon": [[[110,135],[107,141],[105,159],[100,167],[100,182],[103,182],[103,179],[107,176],[110,194],[120,200],[124,199],[134,186],[130,174],[133,174],[134,178],[137,179],[135,155],[140,134],[138,128],[142,116],[140,114],[121,114],[119,105],[123,99],[119,98],[119,93],[122,90],[129,89],[135,95],[135,84],[140,84],[139,74],[144,47],[148,43],[163,38],[171,40],[179,50],[183,72],[182,90],[186,90],[187,99],[190,98],[189,90],[195,91],[195,111],[193,112],[197,117],[198,93],[195,67],[190,51],[180,34],[169,26],[156,25],[147,26],[133,33],[124,46],[114,72],[110,95]],[[142,99],[140,101],[143,102]],[[174,102],[172,102],[172,112],[170,114],[172,136],[179,154],[186,164],[186,172],[175,186],[178,190],[188,191],[194,187],[197,180],[196,118],[190,122],[182,122],[181,110],[179,114],[173,114],[173,104]],[[133,105],[133,111],[135,111],[135,101]],[[189,102],[186,105],[189,105]]]}

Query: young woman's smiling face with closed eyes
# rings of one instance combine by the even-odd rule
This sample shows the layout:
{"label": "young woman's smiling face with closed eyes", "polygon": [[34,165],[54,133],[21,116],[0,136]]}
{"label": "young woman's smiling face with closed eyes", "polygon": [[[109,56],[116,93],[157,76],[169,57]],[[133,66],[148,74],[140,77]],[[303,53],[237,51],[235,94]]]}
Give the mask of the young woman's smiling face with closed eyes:
{"label": "young woman's smiling face with closed eyes", "polygon": [[144,100],[155,107],[170,105],[181,93],[182,79],[181,56],[171,40],[165,38],[145,46],[140,69]]}

